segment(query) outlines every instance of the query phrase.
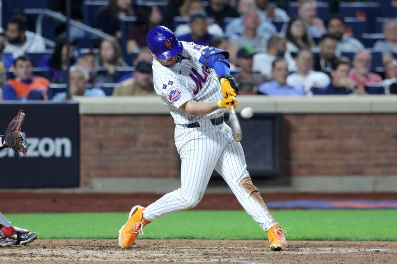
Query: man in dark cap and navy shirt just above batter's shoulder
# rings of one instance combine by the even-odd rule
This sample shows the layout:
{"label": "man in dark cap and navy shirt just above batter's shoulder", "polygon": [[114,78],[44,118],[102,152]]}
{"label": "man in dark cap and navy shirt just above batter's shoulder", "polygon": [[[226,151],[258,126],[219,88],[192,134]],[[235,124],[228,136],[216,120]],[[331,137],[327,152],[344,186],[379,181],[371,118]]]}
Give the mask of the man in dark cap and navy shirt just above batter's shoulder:
{"label": "man in dark cap and navy shirt just above batter's shoulder", "polygon": [[194,42],[198,45],[207,46],[215,36],[208,33],[206,18],[207,16],[203,12],[192,14],[189,23],[192,32],[178,36],[178,40]]}

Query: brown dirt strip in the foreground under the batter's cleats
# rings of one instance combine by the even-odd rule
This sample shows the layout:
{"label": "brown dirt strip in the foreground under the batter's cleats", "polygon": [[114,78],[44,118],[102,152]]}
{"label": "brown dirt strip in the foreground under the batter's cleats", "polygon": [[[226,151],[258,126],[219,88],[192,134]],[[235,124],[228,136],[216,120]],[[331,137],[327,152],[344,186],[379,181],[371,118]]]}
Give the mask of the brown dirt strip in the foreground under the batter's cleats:
{"label": "brown dirt strip in the foreground under the batter's cleats", "polygon": [[397,242],[291,241],[271,252],[260,240],[139,240],[128,250],[116,240],[36,240],[0,253],[0,263],[396,263]]}

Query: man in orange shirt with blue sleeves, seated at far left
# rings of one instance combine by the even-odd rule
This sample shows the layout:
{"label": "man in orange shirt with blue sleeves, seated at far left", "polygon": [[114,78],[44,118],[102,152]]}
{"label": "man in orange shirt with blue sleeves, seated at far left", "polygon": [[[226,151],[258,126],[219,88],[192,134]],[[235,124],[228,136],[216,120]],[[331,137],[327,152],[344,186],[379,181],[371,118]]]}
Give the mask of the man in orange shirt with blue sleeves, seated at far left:
{"label": "man in orange shirt with blue sleeves, seated at far left", "polygon": [[47,99],[50,81],[33,76],[32,63],[29,58],[19,56],[14,62],[15,78],[8,80],[3,87],[3,100],[43,100]]}

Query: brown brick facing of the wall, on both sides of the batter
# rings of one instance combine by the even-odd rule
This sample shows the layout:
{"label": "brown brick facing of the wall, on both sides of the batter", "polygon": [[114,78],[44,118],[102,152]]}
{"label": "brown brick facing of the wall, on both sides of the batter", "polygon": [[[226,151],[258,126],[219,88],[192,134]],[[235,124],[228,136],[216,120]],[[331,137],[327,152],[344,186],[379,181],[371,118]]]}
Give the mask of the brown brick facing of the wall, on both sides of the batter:
{"label": "brown brick facing of the wall, on both sides of the batter", "polygon": [[[179,177],[170,115],[81,115],[80,183]],[[285,175],[397,175],[396,114],[284,115]]]}

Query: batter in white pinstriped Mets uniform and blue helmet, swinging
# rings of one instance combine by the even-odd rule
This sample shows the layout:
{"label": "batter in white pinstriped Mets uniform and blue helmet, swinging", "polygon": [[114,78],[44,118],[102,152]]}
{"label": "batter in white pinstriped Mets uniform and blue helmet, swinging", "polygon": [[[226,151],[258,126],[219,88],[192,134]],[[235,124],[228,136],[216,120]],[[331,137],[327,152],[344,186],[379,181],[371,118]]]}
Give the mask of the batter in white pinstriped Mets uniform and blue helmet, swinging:
{"label": "batter in white pinstriped Mets uniform and blue helmet, swinging", "polygon": [[225,108],[237,106],[238,87],[230,75],[229,53],[178,41],[163,26],[148,32],[147,46],[154,58],[154,89],[175,122],[175,145],[182,160],[181,187],[146,208],[132,207],[128,221],[119,230],[120,247],[129,248],[151,221],[195,207],[215,169],[267,232],[270,249],[284,250],[284,231],[252,184],[241,144],[233,140],[232,130],[223,120]]}

